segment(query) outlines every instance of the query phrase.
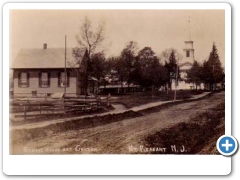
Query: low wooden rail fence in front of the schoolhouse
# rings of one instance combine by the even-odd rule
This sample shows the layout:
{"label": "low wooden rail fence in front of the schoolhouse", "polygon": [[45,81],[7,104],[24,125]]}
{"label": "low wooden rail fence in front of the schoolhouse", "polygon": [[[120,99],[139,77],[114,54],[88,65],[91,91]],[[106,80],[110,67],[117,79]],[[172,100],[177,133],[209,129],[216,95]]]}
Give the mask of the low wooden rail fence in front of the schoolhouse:
{"label": "low wooden rail fence in front of the schoolhouse", "polygon": [[67,114],[77,112],[95,111],[101,108],[99,97],[65,98],[52,101],[12,101],[10,102],[10,114],[14,117],[43,116],[50,114]]}

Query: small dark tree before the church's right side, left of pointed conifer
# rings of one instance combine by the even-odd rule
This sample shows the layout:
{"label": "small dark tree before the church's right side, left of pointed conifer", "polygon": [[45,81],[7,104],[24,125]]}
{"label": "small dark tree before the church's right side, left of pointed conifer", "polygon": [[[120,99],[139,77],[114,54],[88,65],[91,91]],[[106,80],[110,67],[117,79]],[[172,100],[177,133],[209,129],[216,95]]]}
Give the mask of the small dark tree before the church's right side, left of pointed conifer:
{"label": "small dark tree before the church's right side, left of pointed conifer", "polygon": [[187,80],[194,83],[196,89],[200,85],[202,81],[202,66],[197,61],[194,61],[192,68],[187,71]]}

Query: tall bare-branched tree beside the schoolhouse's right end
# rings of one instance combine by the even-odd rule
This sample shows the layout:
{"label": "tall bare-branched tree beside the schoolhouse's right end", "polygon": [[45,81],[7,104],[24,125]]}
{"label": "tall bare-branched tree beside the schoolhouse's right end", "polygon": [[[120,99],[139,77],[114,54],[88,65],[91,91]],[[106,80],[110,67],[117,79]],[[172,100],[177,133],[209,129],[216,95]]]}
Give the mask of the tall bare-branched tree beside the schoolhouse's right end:
{"label": "tall bare-branched tree beside the schoolhouse's right end", "polygon": [[[89,65],[91,61],[91,54],[96,52],[97,48],[101,46],[101,43],[104,40],[104,23],[99,23],[98,28],[94,30],[91,21],[85,17],[76,39],[78,42],[78,47],[73,49],[73,56],[79,64],[79,70],[82,73],[82,76],[79,76],[79,78],[85,79],[85,81],[83,81],[84,84],[82,83],[81,85],[85,87],[85,95],[88,95],[88,79],[90,73]],[[86,63],[81,62],[82,59],[84,59],[83,56],[85,56]],[[85,72],[83,72],[83,69]]]}

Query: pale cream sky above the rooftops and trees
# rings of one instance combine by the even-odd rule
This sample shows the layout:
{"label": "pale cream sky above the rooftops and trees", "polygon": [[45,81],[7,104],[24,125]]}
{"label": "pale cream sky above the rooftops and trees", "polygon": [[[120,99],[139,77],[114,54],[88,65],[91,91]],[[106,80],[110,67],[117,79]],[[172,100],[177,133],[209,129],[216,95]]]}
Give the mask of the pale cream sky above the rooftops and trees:
{"label": "pale cream sky above the rooftops and trees", "polygon": [[168,48],[183,54],[184,41],[194,41],[195,59],[206,60],[215,42],[222,65],[225,65],[224,10],[11,10],[10,57],[21,48],[64,48],[77,46],[76,35],[87,16],[93,26],[105,23],[106,55],[119,55],[129,41],[139,50],[149,46],[160,55]]}

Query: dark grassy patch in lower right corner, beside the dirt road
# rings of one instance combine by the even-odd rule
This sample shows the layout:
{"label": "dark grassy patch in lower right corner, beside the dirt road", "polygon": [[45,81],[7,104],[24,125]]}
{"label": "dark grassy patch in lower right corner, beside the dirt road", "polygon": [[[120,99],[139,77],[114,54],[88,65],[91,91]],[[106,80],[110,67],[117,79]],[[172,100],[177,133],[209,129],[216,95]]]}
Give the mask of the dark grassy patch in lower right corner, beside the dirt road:
{"label": "dark grassy patch in lower right corner, beside the dirt road", "polygon": [[152,154],[218,154],[217,139],[225,133],[225,104],[198,114],[189,122],[179,123],[147,136],[144,146]]}

